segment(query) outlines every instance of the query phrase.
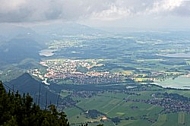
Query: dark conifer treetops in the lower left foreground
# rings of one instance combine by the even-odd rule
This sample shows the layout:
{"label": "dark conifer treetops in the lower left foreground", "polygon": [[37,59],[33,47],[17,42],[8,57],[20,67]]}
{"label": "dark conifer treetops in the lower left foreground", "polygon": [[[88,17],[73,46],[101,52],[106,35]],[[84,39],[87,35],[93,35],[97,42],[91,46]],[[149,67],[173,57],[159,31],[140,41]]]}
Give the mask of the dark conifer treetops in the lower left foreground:
{"label": "dark conifer treetops in the lower left foreground", "polygon": [[29,94],[6,92],[0,81],[1,126],[69,126],[64,112],[54,105],[42,110]]}

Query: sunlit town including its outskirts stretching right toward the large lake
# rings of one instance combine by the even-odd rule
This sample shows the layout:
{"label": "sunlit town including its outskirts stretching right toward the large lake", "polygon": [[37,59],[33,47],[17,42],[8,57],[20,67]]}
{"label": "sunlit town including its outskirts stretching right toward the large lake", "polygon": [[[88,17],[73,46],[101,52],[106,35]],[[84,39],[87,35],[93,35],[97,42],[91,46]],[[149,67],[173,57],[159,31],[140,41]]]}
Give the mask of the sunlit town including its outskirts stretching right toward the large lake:
{"label": "sunlit town including its outskirts stretching right toward the large lake", "polygon": [[57,84],[109,84],[124,83],[132,79],[138,83],[152,83],[155,80],[175,78],[184,73],[181,72],[155,72],[144,70],[120,70],[106,69],[103,59],[49,59],[40,62],[46,68],[42,73],[39,69],[28,72],[38,77],[43,83],[54,82]]}

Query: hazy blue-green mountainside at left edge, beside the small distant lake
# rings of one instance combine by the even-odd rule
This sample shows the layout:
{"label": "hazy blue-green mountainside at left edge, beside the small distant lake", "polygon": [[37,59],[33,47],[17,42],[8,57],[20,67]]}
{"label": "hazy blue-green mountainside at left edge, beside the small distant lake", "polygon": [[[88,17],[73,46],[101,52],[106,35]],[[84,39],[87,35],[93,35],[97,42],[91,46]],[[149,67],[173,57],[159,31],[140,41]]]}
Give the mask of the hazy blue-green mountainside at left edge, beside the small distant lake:
{"label": "hazy blue-green mountainside at left edge, beside the small distant lake", "polygon": [[30,38],[12,39],[0,45],[0,59],[4,63],[19,63],[26,58],[39,59],[40,45]]}

